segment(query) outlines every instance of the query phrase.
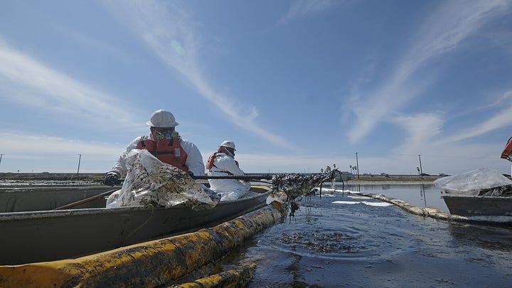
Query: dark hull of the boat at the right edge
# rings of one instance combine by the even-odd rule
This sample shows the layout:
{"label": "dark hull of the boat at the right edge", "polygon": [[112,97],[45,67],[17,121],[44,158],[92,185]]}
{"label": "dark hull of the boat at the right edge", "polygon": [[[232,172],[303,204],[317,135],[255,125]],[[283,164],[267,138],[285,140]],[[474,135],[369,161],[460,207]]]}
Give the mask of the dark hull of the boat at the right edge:
{"label": "dark hull of the boat at the right edge", "polygon": [[445,194],[451,214],[461,216],[512,216],[512,197]]}

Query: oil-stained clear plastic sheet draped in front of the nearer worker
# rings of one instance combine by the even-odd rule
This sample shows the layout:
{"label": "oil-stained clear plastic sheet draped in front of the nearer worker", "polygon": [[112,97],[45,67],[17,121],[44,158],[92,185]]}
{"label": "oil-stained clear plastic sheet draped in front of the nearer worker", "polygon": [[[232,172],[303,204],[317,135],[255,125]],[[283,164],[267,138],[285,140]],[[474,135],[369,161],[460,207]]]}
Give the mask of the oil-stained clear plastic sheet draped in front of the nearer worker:
{"label": "oil-stained clear plastic sheet draped in front of the nearer worker", "polygon": [[182,204],[193,210],[213,208],[220,196],[196,183],[186,172],[156,159],[149,151],[127,154],[128,174],[119,193],[112,194],[107,208],[123,206],[170,207]]}

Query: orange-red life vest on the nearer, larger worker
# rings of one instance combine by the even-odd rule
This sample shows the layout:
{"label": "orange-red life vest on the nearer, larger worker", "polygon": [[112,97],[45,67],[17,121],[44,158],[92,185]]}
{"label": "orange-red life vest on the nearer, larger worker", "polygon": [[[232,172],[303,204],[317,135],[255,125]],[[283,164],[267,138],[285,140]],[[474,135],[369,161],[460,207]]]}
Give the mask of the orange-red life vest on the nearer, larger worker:
{"label": "orange-red life vest on the nearer, larger worker", "polygon": [[162,139],[156,142],[151,139],[144,139],[137,144],[136,148],[146,149],[160,161],[171,164],[183,171],[188,171],[188,167],[185,165],[187,154],[181,147],[179,140]]}

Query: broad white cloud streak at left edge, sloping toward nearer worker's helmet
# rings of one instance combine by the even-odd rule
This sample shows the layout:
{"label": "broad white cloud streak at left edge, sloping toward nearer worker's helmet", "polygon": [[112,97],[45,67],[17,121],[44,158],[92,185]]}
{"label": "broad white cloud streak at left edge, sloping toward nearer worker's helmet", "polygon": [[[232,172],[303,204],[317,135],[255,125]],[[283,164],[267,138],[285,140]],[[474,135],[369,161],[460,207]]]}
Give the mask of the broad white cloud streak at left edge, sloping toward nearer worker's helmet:
{"label": "broad white cloud streak at left edge, sloping toward nearer worker's helmet", "polygon": [[[108,121],[117,127],[137,127],[129,107],[119,109],[119,98],[79,82],[11,48],[0,38],[0,95],[4,101],[68,114],[84,123]],[[23,95],[23,97],[20,97]],[[133,123],[133,124],[130,124]]]}

